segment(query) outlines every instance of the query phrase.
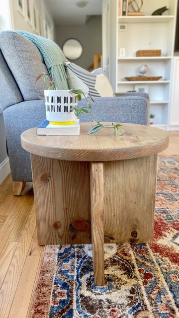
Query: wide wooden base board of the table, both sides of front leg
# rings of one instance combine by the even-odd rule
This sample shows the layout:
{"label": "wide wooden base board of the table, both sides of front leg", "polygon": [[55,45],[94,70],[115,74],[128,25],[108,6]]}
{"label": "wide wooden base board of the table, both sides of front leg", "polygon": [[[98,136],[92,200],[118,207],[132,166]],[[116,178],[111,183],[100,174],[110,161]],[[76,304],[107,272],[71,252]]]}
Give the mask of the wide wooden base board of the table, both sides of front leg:
{"label": "wide wooden base board of the table, both sides of front leg", "polygon": [[[39,244],[90,243],[89,162],[31,158]],[[104,161],[103,173],[104,242],[151,242],[157,155]]]}

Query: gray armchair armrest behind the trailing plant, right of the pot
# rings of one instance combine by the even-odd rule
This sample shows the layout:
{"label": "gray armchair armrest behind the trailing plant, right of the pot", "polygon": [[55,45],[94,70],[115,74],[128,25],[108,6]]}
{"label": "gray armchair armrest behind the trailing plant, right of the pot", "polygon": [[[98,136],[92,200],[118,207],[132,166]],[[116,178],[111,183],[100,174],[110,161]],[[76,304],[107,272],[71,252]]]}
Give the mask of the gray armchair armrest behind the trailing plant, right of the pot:
{"label": "gray armchair armrest behind the trailing plant, right of the pot", "polygon": [[[79,102],[80,107],[86,105],[86,100]],[[116,97],[96,97],[92,103],[94,118],[103,122],[121,122],[148,125],[149,101],[143,96],[127,95]],[[87,114],[80,115],[81,122],[92,121]]]}

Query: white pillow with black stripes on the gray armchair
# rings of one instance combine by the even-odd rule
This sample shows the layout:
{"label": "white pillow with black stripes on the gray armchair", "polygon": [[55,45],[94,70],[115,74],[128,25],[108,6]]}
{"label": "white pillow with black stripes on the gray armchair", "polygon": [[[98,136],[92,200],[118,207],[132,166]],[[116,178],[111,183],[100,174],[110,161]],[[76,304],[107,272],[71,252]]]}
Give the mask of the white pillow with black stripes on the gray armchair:
{"label": "white pillow with black stripes on the gray armchair", "polygon": [[82,89],[89,97],[112,97],[113,90],[105,75],[95,75],[82,69],[80,66],[65,62],[69,88]]}

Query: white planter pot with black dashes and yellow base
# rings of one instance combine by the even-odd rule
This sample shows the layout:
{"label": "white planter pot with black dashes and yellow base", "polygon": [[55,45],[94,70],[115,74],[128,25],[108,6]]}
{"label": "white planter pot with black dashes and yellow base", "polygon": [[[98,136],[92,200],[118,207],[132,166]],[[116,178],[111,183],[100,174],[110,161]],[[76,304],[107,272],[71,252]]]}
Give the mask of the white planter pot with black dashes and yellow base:
{"label": "white planter pot with black dashes and yellow base", "polygon": [[51,124],[74,124],[77,120],[72,107],[77,106],[77,97],[70,90],[44,90],[46,118]]}

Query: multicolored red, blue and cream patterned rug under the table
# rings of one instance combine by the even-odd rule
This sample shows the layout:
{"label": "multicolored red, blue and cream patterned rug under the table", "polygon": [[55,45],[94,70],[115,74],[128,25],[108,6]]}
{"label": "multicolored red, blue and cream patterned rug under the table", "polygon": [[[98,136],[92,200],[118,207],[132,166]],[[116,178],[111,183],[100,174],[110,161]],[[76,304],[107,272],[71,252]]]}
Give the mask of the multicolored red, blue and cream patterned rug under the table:
{"label": "multicolored red, blue and cream patterned rug under the table", "polygon": [[91,245],[47,245],[30,318],[179,318],[179,157],[159,158],[153,244],[105,244],[95,287]]}

